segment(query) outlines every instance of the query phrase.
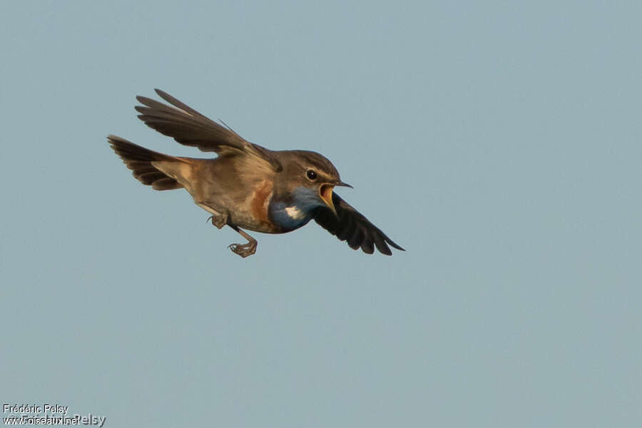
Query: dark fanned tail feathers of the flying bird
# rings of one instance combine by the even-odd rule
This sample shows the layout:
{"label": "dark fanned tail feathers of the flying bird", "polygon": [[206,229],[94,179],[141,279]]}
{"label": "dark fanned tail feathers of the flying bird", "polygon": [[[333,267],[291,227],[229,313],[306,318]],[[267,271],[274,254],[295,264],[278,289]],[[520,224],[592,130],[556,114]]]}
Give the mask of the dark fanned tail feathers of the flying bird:
{"label": "dark fanned tail feathers of the flying bird", "polygon": [[108,136],[107,141],[113,151],[127,165],[127,168],[133,171],[136,180],[145,185],[151,185],[156,190],[172,190],[183,187],[178,181],[152,165],[152,161],[178,161],[173,156],[148,150],[117,136]]}

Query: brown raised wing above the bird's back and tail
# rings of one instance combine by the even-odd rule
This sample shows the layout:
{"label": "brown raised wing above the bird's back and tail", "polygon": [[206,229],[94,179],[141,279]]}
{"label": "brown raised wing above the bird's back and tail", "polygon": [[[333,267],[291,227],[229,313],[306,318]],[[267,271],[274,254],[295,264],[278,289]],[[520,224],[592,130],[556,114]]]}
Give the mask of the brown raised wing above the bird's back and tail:
{"label": "brown raised wing above the bird's back and tail", "polygon": [[280,163],[272,156],[271,151],[245,141],[230,128],[203,116],[168,93],[160,89],[156,89],[156,93],[173,107],[151,98],[137,96],[138,102],[143,104],[136,106],[136,111],[141,113],[138,118],[150,128],[174,138],[185,146],[198,147],[200,151],[216,152],[219,156],[255,156],[269,163],[273,169],[281,169]]}

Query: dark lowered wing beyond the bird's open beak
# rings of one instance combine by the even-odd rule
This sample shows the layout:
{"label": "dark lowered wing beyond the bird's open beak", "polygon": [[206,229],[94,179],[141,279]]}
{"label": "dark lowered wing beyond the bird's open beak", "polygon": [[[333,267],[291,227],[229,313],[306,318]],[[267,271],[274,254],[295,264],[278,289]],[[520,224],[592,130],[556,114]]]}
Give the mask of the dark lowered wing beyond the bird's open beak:
{"label": "dark lowered wing beyond the bird's open beak", "polygon": [[336,193],[332,193],[332,203],[335,204],[339,218],[335,217],[330,208],[318,208],[315,213],[315,221],[340,240],[347,240],[347,244],[352,250],[361,248],[364,253],[372,254],[376,245],[379,253],[392,255],[392,251],[387,245],[390,244],[397,250],[405,251]]}

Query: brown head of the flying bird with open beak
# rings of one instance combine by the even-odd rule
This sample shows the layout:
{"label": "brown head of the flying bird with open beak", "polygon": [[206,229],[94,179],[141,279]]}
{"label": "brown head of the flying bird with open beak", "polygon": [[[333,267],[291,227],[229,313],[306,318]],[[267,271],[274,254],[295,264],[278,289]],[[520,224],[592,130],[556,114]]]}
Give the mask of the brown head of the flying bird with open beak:
{"label": "brown head of the flying bird with open beak", "polygon": [[352,187],[343,183],[339,172],[325,156],[312,151],[280,152],[283,165],[277,174],[276,185],[292,198],[293,205],[311,211],[325,206],[337,215],[332,203],[332,189],[335,186]]}

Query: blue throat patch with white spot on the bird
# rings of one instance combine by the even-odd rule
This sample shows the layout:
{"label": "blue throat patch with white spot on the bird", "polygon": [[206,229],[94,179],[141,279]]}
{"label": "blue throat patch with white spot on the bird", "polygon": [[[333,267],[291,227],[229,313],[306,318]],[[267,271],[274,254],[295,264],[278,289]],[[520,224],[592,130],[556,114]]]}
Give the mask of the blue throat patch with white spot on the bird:
{"label": "blue throat patch with white spot on the bird", "polygon": [[312,220],[312,210],[324,206],[316,190],[298,187],[292,192],[294,200],[290,205],[282,201],[270,201],[267,208],[274,223],[287,230],[295,230]]}

